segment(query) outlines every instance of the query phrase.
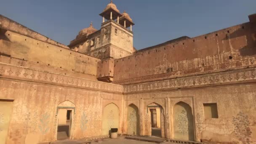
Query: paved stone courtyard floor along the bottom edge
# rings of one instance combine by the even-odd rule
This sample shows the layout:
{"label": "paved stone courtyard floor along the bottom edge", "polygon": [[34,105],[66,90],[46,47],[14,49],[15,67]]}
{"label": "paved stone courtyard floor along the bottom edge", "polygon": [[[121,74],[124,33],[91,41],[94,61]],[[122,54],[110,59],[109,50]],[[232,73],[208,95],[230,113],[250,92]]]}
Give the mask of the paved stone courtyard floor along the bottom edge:
{"label": "paved stone courtyard floor along the bottom edge", "polygon": [[[62,141],[62,142],[54,142],[54,144],[85,144],[83,141]],[[156,144],[152,142],[146,141],[136,141],[125,139],[124,137],[118,137],[117,139],[102,139],[99,141],[93,141],[91,144]],[[176,144],[172,142],[163,142],[161,144]]]}

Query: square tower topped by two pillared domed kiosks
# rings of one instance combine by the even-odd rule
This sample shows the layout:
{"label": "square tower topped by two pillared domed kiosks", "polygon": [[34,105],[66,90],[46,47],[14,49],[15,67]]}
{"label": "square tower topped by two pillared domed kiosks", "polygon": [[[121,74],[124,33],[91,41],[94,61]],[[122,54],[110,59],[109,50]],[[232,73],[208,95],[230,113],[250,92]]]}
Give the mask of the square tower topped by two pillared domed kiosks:
{"label": "square tower topped by two pillared domed kiosks", "polygon": [[[121,14],[111,0],[99,15],[103,18],[101,35],[105,48],[109,50],[109,57],[119,59],[131,55],[133,53],[132,26],[134,24],[128,13]],[[130,29],[127,29],[128,27]]]}

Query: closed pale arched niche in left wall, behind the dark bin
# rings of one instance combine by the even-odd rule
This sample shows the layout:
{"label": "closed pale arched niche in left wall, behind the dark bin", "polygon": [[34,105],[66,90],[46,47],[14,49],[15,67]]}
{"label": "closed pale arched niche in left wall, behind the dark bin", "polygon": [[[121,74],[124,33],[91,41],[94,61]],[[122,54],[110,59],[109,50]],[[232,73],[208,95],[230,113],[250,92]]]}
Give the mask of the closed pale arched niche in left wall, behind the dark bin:
{"label": "closed pale arched niche in left wall, behind the dark bin", "polygon": [[102,135],[109,135],[111,128],[119,128],[119,109],[113,103],[103,109]]}

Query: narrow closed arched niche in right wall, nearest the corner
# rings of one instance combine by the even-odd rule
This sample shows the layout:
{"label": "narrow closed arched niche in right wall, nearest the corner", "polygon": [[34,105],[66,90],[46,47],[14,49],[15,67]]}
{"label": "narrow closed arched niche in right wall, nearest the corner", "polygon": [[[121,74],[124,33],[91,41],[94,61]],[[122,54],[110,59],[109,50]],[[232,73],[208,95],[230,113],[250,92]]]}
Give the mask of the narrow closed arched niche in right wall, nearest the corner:
{"label": "narrow closed arched niche in right wall, nearest the corner", "polygon": [[127,133],[139,135],[139,109],[134,104],[127,107]]}

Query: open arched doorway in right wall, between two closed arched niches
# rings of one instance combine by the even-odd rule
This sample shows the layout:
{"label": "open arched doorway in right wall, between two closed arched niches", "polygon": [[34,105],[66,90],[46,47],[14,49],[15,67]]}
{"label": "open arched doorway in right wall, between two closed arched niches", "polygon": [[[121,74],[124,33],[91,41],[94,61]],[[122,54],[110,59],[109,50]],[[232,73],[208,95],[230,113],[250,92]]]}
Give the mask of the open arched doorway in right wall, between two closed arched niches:
{"label": "open arched doorway in right wall, between two closed arched niches", "polygon": [[156,103],[147,105],[149,116],[149,136],[165,138],[165,120],[163,107]]}

